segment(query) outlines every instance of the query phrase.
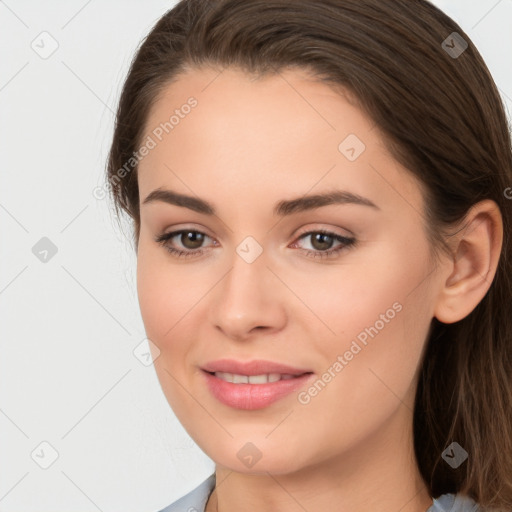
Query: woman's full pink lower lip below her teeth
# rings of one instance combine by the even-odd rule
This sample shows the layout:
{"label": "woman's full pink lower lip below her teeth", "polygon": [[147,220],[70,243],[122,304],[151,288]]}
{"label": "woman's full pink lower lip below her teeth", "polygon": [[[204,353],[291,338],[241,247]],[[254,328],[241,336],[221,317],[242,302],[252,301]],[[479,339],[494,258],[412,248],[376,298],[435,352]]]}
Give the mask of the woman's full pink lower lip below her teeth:
{"label": "woman's full pink lower lip below her teeth", "polygon": [[288,380],[278,380],[267,384],[233,384],[219,379],[203,370],[206,383],[212,395],[224,405],[235,409],[263,409],[281,398],[293,393],[314,375],[306,373]]}

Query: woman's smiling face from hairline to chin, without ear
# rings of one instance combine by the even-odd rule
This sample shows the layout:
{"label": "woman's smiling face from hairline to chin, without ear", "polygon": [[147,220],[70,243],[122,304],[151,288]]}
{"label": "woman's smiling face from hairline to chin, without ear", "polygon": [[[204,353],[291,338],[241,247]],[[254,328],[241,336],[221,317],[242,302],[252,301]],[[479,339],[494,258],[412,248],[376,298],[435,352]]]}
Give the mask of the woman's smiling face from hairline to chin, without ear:
{"label": "woman's smiling face from hairline to chin, without ear", "polygon": [[[403,444],[439,276],[419,185],[374,123],[302,71],[203,69],[165,89],[143,141],[141,314],[163,392],[203,451],[284,474]],[[145,202],[156,189],[175,195]],[[336,200],[308,199],[325,194]],[[204,370],[221,359],[309,373],[229,383]]]}

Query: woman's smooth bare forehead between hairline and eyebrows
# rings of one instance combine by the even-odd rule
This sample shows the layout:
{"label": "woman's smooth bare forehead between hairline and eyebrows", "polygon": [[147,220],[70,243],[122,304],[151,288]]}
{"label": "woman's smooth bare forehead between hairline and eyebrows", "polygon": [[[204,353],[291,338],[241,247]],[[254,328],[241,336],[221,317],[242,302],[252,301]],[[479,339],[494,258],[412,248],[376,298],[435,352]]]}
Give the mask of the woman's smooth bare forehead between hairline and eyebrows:
{"label": "woman's smooth bare forehead between hairline and eyebrows", "polygon": [[421,201],[374,122],[304,70],[262,78],[231,68],[189,70],[154,102],[148,137],[155,144],[139,164],[141,199],[166,185],[205,197],[213,185],[231,198],[234,189],[261,199],[279,191],[275,199],[282,199],[283,192],[344,186],[381,202],[397,193]]}

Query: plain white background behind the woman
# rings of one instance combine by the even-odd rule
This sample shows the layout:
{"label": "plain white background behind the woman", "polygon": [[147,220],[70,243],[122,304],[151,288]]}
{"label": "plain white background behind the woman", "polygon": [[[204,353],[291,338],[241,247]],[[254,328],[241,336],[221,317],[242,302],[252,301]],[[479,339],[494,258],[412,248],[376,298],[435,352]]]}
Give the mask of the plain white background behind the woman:
{"label": "plain white background behind the woman", "polygon": [[[434,3],[512,112],[512,0]],[[92,194],[129,63],[173,5],[0,1],[1,512],[152,512],[213,472],[133,354],[145,333],[130,226]],[[47,59],[31,47],[43,31],[59,45]],[[57,247],[46,263],[42,237]]]}

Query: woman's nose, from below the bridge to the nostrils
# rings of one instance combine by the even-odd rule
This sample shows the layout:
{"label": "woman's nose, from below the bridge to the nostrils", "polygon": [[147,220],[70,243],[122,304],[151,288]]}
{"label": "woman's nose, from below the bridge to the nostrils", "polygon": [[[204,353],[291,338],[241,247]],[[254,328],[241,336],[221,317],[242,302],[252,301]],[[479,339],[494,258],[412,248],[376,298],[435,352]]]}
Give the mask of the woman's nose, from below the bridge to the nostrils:
{"label": "woman's nose, from below the bridge to the nostrils", "polygon": [[248,263],[238,254],[211,294],[211,325],[225,336],[246,340],[254,333],[276,333],[287,321],[286,287],[263,254]]}

